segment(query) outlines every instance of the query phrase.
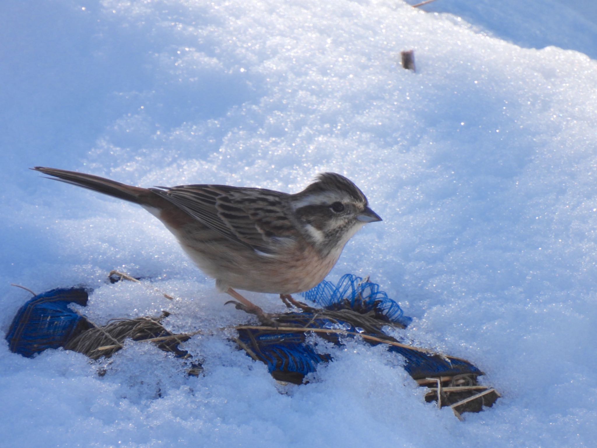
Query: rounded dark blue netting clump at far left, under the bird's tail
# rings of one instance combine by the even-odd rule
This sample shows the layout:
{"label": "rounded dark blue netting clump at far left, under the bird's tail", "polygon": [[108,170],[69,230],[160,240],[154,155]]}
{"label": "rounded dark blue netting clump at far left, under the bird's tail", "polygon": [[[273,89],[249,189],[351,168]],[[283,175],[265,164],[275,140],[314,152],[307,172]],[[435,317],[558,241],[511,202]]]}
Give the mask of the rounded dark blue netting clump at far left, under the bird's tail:
{"label": "rounded dark blue netting clump at far left, under the bird's tail", "polygon": [[53,289],[27,301],[13,319],[6,339],[11,351],[26,357],[64,346],[70,337],[90,327],[69,303],[87,305],[83,288]]}

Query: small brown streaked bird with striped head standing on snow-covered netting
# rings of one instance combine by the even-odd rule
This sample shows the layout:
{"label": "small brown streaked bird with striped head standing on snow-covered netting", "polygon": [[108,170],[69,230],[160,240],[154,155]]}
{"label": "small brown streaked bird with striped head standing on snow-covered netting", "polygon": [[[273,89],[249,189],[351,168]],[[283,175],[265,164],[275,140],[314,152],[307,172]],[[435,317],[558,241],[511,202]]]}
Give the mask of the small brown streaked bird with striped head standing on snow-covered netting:
{"label": "small brown streaked bird with striped head standing on snow-covered netting", "polygon": [[141,205],[220,291],[258,317],[261,308],[235,289],[283,299],[309,290],[324,280],[356,231],[381,221],[362,191],[336,173],[319,174],[303,191],[288,194],[227,185],[140,188],[75,171],[32,169]]}

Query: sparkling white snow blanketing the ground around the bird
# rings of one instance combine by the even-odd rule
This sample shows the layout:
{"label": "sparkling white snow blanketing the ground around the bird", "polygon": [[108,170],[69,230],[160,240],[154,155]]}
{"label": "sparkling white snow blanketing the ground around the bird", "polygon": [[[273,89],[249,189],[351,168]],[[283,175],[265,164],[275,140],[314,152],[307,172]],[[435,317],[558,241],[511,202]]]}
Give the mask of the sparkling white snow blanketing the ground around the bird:
{"label": "sparkling white snow blanketing the ground around the bird", "polygon": [[[423,9],[2,5],[0,333],[29,297],[10,283],[87,284],[96,323],[168,309],[171,329],[202,329],[185,348],[205,375],[186,378],[183,361],[143,343],[90,363],[23,358],[2,338],[0,446],[597,446],[595,4]],[[417,73],[397,65],[411,48]],[[473,361],[503,397],[459,422],[423,402],[401,360],[358,342],[309,385],[281,388],[227,342],[219,328],[247,316],[159,222],[34,165],[290,192],[343,173],[384,221],[328,279],[371,275],[414,318],[405,336]],[[104,283],[113,268],[151,288]]]}

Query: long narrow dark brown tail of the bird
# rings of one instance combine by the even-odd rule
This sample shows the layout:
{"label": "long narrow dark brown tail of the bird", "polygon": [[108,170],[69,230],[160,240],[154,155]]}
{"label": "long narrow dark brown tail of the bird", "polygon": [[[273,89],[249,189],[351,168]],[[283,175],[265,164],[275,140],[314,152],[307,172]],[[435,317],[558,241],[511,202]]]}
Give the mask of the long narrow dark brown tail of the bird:
{"label": "long narrow dark brown tail of the bird", "polygon": [[[91,174],[76,173],[75,171],[57,170],[56,168],[35,167],[32,170],[41,171],[41,173],[53,176],[61,182],[72,183],[83,188],[98,191],[104,195],[124,199],[125,201],[135,202],[136,204],[145,204],[147,196],[153,196],[146,188],[140,188],[104,177],[93,176]],[[52,178],[50,178],[52,179]]]}

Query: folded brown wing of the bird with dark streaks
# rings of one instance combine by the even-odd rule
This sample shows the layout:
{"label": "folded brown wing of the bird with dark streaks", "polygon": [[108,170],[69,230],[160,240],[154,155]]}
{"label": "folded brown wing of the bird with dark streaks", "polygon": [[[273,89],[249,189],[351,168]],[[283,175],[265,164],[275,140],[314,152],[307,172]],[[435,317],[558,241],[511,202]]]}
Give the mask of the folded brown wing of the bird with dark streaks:
{"label": "folded brown wing of the bird with dark streaks", "polygon": [[285,193],[226,185],[183,185],[151,189],[194,219],[230,240],[271,254],[297,235]]}

